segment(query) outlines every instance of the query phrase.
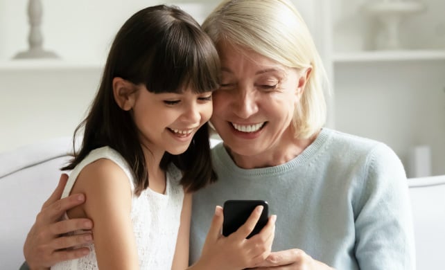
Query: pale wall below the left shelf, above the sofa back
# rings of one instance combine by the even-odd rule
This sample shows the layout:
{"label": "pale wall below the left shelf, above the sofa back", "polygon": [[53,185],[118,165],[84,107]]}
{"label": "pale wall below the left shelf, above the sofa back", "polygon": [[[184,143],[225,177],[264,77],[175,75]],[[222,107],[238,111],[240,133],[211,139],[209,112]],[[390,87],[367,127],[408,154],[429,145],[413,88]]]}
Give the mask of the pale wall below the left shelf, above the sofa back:
{"label": "pale wall below the left shelf, above the sofa back", "polygon": [[0,70],[0,151],[71,136],[99,77],[98,68]]}

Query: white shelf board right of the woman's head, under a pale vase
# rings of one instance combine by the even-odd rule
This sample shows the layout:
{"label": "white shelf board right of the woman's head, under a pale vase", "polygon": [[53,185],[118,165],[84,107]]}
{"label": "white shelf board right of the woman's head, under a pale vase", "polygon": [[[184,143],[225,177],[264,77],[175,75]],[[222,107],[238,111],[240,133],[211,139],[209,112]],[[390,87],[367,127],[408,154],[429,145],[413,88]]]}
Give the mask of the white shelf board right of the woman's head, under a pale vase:
{"label": "white shelf board right of the woman's head, under a pale vase", "polygon": [[445,61],[445,50],[364,51],[334,53],[334,63],[394,62],[394,61]]}

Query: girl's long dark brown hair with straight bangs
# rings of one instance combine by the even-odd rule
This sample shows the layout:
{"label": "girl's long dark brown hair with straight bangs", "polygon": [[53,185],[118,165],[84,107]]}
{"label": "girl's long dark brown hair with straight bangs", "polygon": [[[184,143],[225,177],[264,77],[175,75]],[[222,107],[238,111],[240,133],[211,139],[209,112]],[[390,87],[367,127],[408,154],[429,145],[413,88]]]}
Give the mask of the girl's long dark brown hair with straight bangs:
{"label": "girl's long dark brown hair with straight bangs", "polygon": [[[107,145],[130,164],[139,195],[148,187],[146,159],[130,111],[114,100],[113,78],[143,84],[152,93],[181,93],[187,87],[204,93],[218,88],[219,69],[213,42],[186,12],[159,5],[135,13],[114,39],[96,98],[74,132],[73,144],[76,134],[85,128],[82,146],[78,152],[74,149],[73,160],[62,170],[72,170],[91,150]],[[216,181],[207,123],[198,129],[186,152],[164,154],[161,168],[166,170],[170,163],[182,170],[181,184],[188,191]]]}

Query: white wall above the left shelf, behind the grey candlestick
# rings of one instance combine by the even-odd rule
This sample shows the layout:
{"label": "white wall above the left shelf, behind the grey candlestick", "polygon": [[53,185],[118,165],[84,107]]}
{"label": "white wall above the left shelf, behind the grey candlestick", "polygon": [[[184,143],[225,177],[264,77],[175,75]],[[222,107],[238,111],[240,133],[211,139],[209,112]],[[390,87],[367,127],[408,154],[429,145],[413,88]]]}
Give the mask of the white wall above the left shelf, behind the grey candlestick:
{"label": "white wall above the left shelf, behind the grey candlestick", "polygon": [[[157,3],[176,3],[202,22],[219,0],[197,0],[204,9],[185,0],[41,0],[44,47],[64,60],[103,61],[115,33],[134,12]],[[313,4],[297,1],[310,27],[315,23]],[[0,60],[28,48],[27,0],[0,0]]]}

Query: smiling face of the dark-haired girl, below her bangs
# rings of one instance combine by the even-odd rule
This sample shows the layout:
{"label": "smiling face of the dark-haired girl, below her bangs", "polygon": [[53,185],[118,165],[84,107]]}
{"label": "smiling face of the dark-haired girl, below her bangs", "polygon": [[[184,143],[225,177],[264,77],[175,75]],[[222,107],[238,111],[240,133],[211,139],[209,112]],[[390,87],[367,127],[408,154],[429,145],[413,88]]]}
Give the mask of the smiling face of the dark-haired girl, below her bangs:
{"label": "smiling face of the dark-haired girl, below her bangs", "polygon": [[141,143],[153,154],[182,154],[212,113],[211,92],[150,93],[139,87],[132,114]]}

